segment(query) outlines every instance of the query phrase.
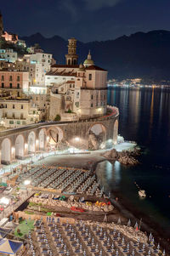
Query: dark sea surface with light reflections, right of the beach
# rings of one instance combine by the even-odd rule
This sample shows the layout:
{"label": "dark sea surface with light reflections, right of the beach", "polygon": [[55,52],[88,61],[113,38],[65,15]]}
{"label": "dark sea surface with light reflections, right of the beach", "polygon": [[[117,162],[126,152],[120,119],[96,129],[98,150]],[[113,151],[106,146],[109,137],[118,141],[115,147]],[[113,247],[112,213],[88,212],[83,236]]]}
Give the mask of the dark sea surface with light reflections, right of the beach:
{"label": "dark sea surface with light reflections, right of the beach", "polygon": [[[119,108],[119,134],[142,149],[137,167],[101,162],[97,173],[105,191],[142,222],[170,238],[170,89],[109,88],[108,104]],[[138,187],[146,191],[141,200]]]}

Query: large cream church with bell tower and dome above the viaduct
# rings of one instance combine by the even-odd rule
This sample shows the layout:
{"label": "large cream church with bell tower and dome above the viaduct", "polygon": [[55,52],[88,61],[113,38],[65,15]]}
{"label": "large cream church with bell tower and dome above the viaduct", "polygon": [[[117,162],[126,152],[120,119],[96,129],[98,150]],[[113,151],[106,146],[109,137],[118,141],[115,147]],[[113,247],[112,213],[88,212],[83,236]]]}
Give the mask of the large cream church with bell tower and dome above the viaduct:
{"label": "large cream church with bell tower and dome above the viaduct", "polygon": [[[73,43],[72,43],[73,41]],[[76,65],[76,39],[69,39],[66,65],[52,65],[45,83],[51,87],[49,119],[100,117],[106,113],[107,71],[94,65],[88,53],[83,65]]]}

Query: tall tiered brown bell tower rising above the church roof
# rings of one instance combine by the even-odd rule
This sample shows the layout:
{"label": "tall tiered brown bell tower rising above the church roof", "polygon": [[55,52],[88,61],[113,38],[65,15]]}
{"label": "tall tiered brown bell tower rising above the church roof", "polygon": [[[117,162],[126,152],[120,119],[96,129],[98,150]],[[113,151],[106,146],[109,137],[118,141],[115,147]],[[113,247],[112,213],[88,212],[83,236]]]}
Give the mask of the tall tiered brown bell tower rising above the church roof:
{"label": "tall tiered brown bell tower rising above the church roof", "polygon": [[77,65],[77,39],[71,38],[68,41],[68,54],[65,54],[66,65]]}

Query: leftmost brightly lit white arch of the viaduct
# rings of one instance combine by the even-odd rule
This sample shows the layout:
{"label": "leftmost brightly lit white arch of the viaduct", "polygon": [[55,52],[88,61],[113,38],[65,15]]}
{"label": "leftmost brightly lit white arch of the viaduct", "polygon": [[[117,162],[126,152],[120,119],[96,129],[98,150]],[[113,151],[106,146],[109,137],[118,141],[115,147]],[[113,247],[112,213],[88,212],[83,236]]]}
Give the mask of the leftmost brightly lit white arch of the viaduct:
{"label": "leftmost brightly lit white arch of the viaduct", "polygon": [[11,141],[6,138],[3,139],[1,145],[1,163],[9,164],[11,162]]}

